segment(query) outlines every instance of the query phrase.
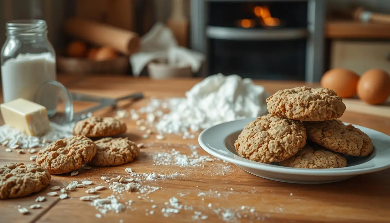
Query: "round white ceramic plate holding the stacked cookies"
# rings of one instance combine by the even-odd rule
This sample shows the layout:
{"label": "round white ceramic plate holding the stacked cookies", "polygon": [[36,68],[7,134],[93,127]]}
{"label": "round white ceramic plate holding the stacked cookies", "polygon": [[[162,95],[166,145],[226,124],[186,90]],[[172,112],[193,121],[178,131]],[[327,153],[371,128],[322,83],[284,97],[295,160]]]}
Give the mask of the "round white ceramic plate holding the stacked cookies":
{"label": "round white ceramic plate holding the stacked cookies", "polygon": [[[381,132],[354,125],[371,137],[374,151],[367,157],[347,157],[347,167],[333,169],[300,169],[279,166],[277,162],[264,164],[240,157],[234,148],[247,123],[254,118],[246,118],[215,125],[203,130],[199,135],[200,146],[211,155],[258,177],[281,182],[298,184],[321,184],[345,180],[363,173],[372,173],[390,168],[390,136]],[[347,123],[344,123],[347,124]]]}

